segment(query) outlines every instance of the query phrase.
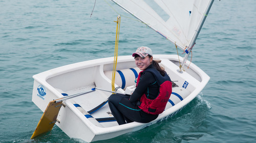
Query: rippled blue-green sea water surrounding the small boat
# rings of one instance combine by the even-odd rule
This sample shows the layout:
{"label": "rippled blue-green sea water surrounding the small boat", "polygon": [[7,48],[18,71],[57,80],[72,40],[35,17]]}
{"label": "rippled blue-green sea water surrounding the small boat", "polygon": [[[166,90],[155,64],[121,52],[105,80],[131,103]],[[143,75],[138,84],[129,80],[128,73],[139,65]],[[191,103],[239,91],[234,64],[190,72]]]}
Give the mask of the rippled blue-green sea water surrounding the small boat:
{"label": "rippled blue-green sea water surrounding the small boat", "polygon": [[[57,126],[30,139],[42,115],[31,101],[32,76],[114,56],[119,14],[119,56],[142,45],[154,54],[177,54],[174,44],[112,2],[94,3],[0,1],[0,142],[79,142]],[[192,53],[211,77],[197,98],[166,121],[97,142],[254,142],[255,15],[254,0],[215,1]]]}

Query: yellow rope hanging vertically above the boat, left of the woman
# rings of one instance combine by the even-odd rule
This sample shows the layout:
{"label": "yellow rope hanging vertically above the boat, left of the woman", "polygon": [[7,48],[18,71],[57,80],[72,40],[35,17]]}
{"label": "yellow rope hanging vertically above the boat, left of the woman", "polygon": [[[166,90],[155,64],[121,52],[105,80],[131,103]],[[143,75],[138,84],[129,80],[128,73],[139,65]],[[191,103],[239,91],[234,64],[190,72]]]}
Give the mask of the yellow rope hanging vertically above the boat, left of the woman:
{"label": "yellow rope hanging vertically above the boat, left of the woman", "polygon": [[117,64],[117,56],[118,56],[118,41],[119,41],[119,30],[120,30],[120,15],[117,16],[116,22],[116,42],[115,42],[115,55],[114,55],[114,64],[113,64],[113,72],[112,72],[112,91],[115,91],[115,77],[116,77],[116,64]]}

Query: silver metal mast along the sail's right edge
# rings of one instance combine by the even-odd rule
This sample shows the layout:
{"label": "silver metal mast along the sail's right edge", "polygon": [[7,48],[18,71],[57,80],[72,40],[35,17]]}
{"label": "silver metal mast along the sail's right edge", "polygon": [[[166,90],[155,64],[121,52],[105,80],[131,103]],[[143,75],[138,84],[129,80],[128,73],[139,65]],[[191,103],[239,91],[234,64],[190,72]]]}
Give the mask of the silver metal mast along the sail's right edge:
{"label": "silver metal mast along the sail's right edge", "polygon": [[[193,49],[193,45],[195,44],[195,42],[196,42],[196,40],[197,40],[197,37],[198,37],[198,35],[199,35],[199,33],[200,33],[202,27],[203,27],[204,21],[205,21],[205,19],[206,19],[208,13],[209,13],[209,11],[210,11],[210,8],[211,8],[211,6],[212,6],[212,3],[214,3],[214,0],[211,0],[211,2],[209,3],[209,5],[208,5],[208,7],[207,7],[206,13],[205,13],[203,19],[201,20],[200,25],[199,25],[199,27],[197,28],[196,33],[195,33],[195,35],[193,36],[193,39],[191,40],[191,42],[190,42],[190,44],[189,44],[189,46],[188,46],[188,47],[191,47],[191,48],[190,48],[189,50],[187,50],[186,55],[184,56],[183,61],[182,61],[182,63],[181,63],[181,67],[184,67],[184,65],[185,65],[185,63],[186,63],[186,61],[187,61],[187,58],[188,58],[188,56],[189,56],[191,50]],[[178,69],[177,71],[180,72],[180,73],[183,73],[181,69],[180,69],[180,70]]]}

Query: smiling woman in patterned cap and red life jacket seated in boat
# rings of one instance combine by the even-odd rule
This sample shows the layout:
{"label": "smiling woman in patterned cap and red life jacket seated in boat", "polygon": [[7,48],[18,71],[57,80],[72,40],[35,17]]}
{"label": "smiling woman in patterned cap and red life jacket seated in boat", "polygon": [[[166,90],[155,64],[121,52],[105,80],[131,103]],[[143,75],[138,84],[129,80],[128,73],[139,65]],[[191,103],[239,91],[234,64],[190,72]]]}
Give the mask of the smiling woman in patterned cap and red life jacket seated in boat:
{"label": "smiling woman in patterned cap and red life jacket seated in boat", "polygon": [[166,72],[153,60],[149,47],[138,47],[135,63],[142,71],[132,95],[112,94],[109,106],[119,125],[140,122],[148,123],[162,113],[172,93],[172,82]]}

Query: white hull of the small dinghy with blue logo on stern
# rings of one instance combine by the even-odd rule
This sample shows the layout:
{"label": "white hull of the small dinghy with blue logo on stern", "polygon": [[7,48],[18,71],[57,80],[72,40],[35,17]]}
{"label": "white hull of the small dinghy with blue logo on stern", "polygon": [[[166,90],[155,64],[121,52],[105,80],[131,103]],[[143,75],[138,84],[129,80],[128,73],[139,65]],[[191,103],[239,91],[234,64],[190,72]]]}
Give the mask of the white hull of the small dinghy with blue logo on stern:
{"label": "white hull of the small dinghy with blue logo on stern", "polygon": [[[133,122],[120,126],[116,121],[104,120],[99,122],[98,118],[113,118],[108,104],[91,114],[88,113],[90,115],[88,117],[85,113],[100,105],[111,95],[109,92],[96,90],[95,92],[63,101],[65,106],[60,108],[56,125],[69,137],[87,142],[109,139],[137,131],[175,115],[201,92],[210,79],[203,70],[189,61],[186,62],[186,66],[190,64],[189,68],[185,68],[183,73],[179,73],[177,71],[179,62],[182,62],[179,59],[182,58],[178,59],[177,55],[153,55],[153,57],[161,60],[160,65],[165,68],[170,79],[175,81],[177,85],[173,87],[173,93],[165,111],[156,120],[146,124]],[[62,93],[70,96],[95,87],[112,90],[113,60],[114,58],[110,57],[84,61],[34,75],[32,101],[41,111],[45,111],[50,101],[63,97]],[[136,67],[132,56],[118,57],[116,70],[120,70],[123,73],[123,77],[116,75],[115,87],[120,87],[117,92],[131,93],[134,90],[136,74],[130,68],[135,69],[137,74],[140,71]]]}

